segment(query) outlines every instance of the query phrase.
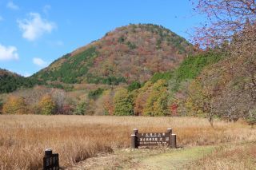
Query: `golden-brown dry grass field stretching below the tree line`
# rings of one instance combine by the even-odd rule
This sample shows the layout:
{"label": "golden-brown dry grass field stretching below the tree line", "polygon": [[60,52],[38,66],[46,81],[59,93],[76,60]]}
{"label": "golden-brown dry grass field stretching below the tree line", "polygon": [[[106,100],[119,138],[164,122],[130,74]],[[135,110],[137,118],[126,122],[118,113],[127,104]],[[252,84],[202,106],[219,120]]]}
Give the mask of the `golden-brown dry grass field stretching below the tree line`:
{"label": "golden-brown dry grass field stretching below the tree line", "polygon": [[[256,130],[242,122],[215,121],[211,128],[206,119],[195,117],[0,115],[0,169],[42,168],[46,148],[59,153],[61,167],[69,167],[101,152],[130,148],[133,128],[144,132],[173,128],[178,146],[185,148],[256,140]],[[236,152],[242,147],[232,149]],[[213,157],[221,159],[225,154],[229,153],[213,152]],[[256,157],[255,150],[251,154]],[[194,166],[213,164],[213,157],[198,160]]]}

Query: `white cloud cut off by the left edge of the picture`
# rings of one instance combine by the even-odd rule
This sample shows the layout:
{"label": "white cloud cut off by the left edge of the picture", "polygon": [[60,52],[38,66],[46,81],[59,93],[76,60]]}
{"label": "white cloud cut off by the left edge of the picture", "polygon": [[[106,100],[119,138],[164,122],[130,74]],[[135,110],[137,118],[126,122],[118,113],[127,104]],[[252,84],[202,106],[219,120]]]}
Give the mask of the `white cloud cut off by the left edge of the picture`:
{"label": "white cloud cut off by the left edge of the picture", "polygon": [[0,44],[0,61],[18,60],[17,48],[15,46],[4,46]]}

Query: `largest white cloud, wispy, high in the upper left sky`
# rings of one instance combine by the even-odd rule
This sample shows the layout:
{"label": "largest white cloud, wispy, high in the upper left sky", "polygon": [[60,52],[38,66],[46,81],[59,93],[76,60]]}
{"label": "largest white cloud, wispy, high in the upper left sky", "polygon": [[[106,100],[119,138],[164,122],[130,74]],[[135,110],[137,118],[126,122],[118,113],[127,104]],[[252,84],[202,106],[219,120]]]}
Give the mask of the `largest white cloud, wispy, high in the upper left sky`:
{"label": "largest white cloud, wispy, high in the upper left sky", "polygon": [[40,38],[42,34],[51,33],[56,25],[54,22],[48,22],[42,19],[38,13],[30,13],[29,18],[18,20],[18,27],[23,31],[22,37],[29,41]]}

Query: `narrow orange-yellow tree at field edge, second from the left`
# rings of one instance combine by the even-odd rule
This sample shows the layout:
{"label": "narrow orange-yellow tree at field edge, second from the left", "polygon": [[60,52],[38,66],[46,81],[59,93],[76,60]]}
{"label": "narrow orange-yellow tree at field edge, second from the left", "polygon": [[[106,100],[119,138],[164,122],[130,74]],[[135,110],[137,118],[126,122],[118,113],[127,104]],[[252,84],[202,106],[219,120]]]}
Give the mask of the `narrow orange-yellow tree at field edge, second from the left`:
{"label": "narrow orange-yellow tree at field edge, second from the left", "polygon": [[46,94],[45,96],[42,97],[41,101],[39,101],[38,106],[41,114],[51,115],[51,114],[54,114],[56,105],[52,97],[50,97],[49,94]]}

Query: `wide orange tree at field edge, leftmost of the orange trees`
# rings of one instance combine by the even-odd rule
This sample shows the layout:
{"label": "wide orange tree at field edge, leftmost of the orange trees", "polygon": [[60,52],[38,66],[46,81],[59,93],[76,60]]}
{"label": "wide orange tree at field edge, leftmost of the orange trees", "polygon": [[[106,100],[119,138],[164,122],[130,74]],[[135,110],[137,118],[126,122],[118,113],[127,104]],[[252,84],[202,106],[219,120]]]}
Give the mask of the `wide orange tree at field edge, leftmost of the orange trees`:
{"label": "wide orange tree at field edge, leftmost of the orange trees", "polygon": [[23,97],[11,96],[2,107],[3,114],[27,114],[28,109]]}

